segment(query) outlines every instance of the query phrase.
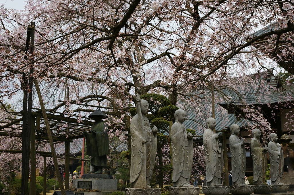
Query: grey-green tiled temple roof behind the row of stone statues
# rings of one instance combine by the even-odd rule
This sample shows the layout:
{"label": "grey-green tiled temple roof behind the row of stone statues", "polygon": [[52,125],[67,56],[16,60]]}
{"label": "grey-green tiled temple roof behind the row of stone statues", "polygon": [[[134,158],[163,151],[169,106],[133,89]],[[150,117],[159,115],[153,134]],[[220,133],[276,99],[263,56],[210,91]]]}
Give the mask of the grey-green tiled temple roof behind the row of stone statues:
{"label": "grey-green tiled temple roof behind the row of stone statues", "polygon": [[[228,129],[229,126],[234,123],[238,124],[241,128],[253,124],[253,122],[248,119],[237,118],[234,114],[235,112],[232,111],[235,107],[230,107],[230,105],[268,104],[294,100],[294,88],[292,86],[284,86],[283,88],[279,87],[280,83],[277,77],[270,73],[270,71],[260,72],[249,76],[255,78],[259,87],[253,88],[251,85],[248,85],[245,91],[237,91],[237,93],[229,88],[222,90],[225,95],[230,97],[230,100],[215,103],[216,131]],[[267,89],[266,91],[268,93],[263,93],[261,89]],[[228,107],[230,107],[231,110],[228,109]],[[205,125],[205,121],[204,119],[196,118],[195,113],[196,112],[193,108],[190,109],[190,111],[187,112],[188,120],[186,120],[184,124],[187,129],[195,130],[197,136],[202,136],[205,130],[202,125]],[[197,122],[189,119],[194,119]]]}

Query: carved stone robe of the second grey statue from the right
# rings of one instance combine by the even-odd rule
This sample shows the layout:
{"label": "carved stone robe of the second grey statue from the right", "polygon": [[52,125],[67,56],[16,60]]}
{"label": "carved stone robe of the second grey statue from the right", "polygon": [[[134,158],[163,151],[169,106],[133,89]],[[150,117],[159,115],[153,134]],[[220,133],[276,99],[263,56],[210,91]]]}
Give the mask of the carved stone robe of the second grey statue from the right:
{"label": "carved stone robe of the second grey statue from the right", "polygon": [[254,184],[265,184],[265,171],[267,166],[266,153],[258,139],[252,138],[250,143],[251,156],[253,160],[253,182]]}

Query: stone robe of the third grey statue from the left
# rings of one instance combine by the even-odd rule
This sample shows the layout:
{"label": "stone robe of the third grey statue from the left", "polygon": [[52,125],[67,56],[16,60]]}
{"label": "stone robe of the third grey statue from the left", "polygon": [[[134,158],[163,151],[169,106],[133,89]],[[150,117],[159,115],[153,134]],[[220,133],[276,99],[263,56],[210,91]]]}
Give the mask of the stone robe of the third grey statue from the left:
{"label": "stone robe of the third grey statue from the left", "polygon": [[223,170],[223,150],[221,147],[218,147],[220,141],[218,138],[213,137],[215,134],[210,129],[206,129],[203,134],[206,182],[208,186],[220,185]]}

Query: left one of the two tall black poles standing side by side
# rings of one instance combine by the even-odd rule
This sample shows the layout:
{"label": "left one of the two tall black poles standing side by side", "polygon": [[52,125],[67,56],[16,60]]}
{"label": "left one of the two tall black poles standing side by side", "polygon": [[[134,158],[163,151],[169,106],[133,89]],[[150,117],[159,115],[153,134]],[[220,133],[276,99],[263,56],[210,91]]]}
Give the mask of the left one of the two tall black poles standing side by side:
{"label": "left one of the two tall black poles standing side by side", "polygon": [[[26,36],[26,48],[29,48],[31,38],[31,26],[28,26]],[[27,56],[24,57],[27,59]],[[29,160],[30,160],[30,132],[27,129],[28,119],[28,80],[26,73],[23,73],[23,83],[21,87],[24,90],[23,100],[23,122],[22,122],[22,160],[21,160],[21,195],[29,194]]]}

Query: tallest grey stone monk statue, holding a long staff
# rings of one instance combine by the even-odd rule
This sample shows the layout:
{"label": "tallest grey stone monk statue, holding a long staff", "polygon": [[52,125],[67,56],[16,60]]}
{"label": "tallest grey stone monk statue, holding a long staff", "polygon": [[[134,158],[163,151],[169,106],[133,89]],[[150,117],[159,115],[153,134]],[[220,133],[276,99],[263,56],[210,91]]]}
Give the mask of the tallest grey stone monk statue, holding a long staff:
{"label": "tallest grey stone monk statue, holding a long staff", "polygon": [[156,158],[157,127],[152,129],[146,114],[149,103],[136,95],[137,114],[131,120],[130,182],[133,188],[151,188],[150,179]]}

